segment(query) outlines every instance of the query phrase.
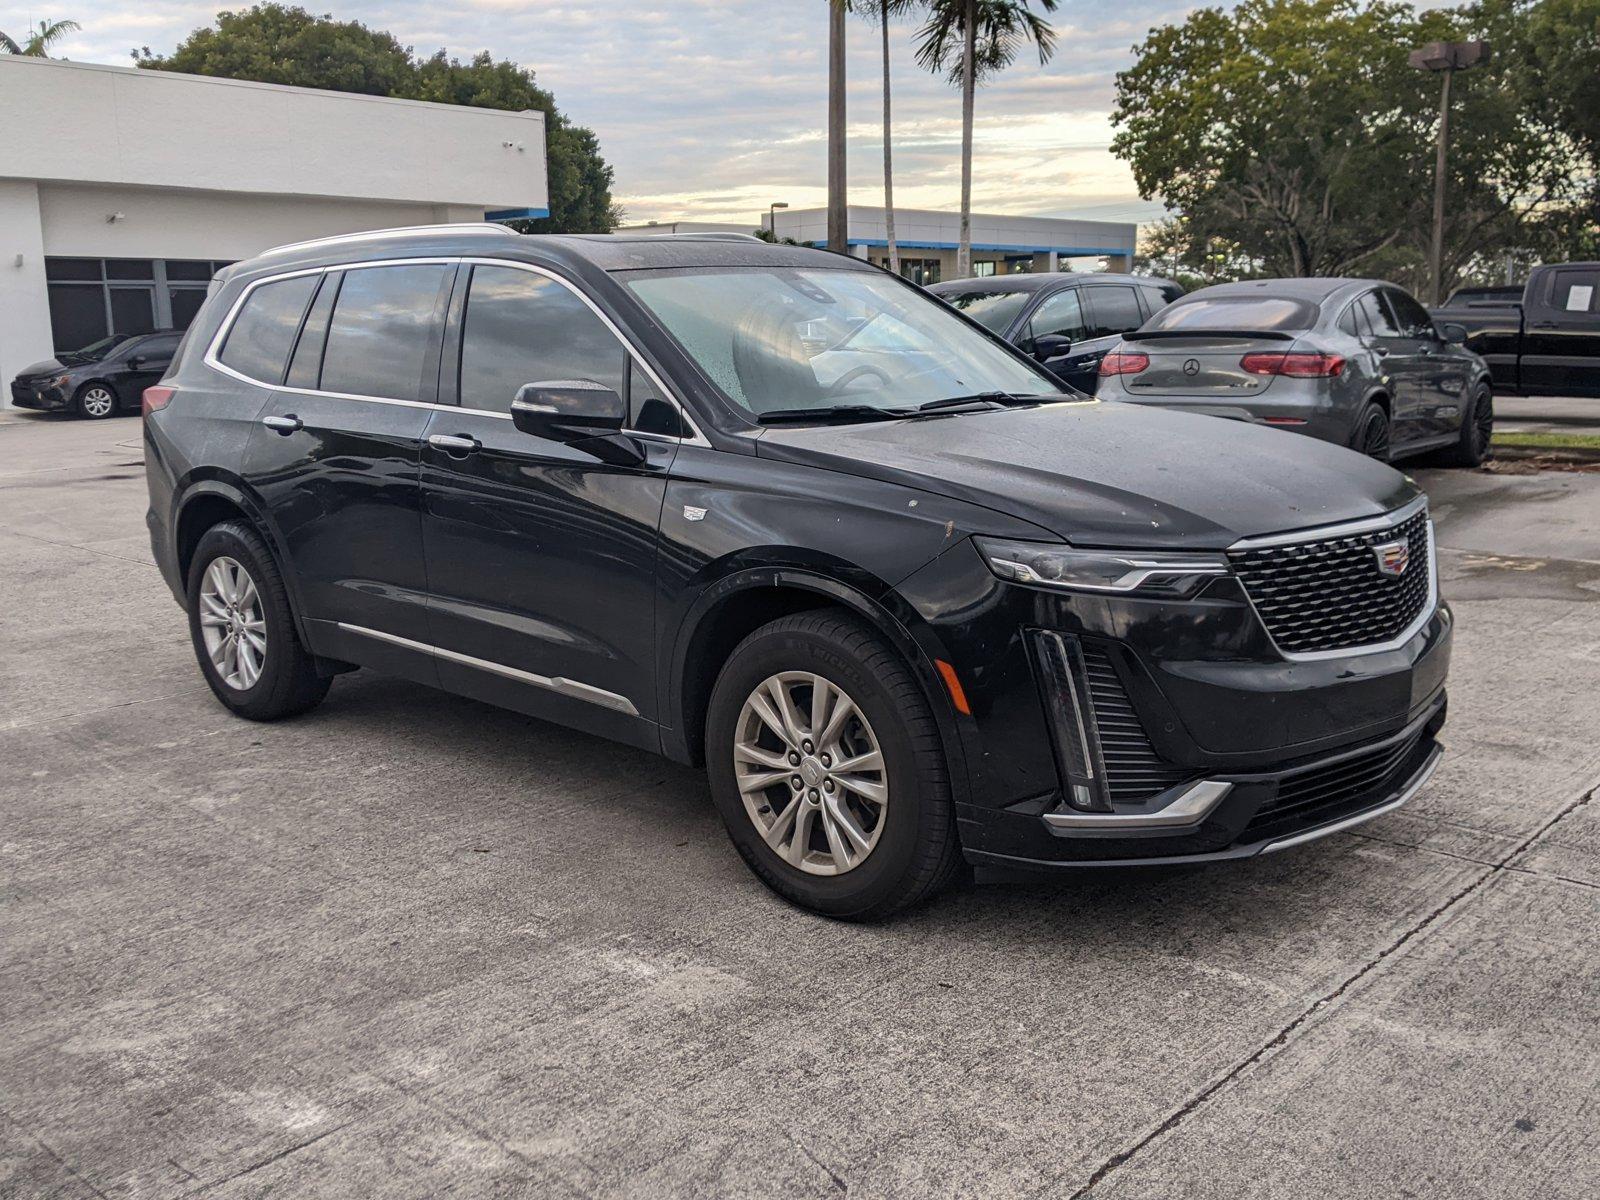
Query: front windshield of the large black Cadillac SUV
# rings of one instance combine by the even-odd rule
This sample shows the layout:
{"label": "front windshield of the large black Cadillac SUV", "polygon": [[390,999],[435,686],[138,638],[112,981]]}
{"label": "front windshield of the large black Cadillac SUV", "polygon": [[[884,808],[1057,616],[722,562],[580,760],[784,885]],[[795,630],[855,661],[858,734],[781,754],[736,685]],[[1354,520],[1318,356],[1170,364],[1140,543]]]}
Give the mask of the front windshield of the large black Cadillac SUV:
{"label": "front windshield of the large black Cadillac SUV", "polygon": [[915,408],[978,392],[1075,395],[875,270],[694,269],[634,278],[629,288],[754,416]]}

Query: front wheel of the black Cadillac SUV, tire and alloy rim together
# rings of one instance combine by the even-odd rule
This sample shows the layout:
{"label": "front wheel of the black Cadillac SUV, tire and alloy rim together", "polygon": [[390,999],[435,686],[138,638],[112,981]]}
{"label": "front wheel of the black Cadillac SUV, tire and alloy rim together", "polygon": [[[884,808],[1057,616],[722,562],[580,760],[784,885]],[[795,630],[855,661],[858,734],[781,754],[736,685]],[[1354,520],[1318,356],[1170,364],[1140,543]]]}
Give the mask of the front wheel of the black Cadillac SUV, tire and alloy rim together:
{"label": "front wheel of the black Cadillac SUV, tire and alloy rim together", "polygon": [[845,613],[786,616],[739,643],[707,707],[706,770],[744,861],[814,912],[888,917],[962,864],[928,698]]}

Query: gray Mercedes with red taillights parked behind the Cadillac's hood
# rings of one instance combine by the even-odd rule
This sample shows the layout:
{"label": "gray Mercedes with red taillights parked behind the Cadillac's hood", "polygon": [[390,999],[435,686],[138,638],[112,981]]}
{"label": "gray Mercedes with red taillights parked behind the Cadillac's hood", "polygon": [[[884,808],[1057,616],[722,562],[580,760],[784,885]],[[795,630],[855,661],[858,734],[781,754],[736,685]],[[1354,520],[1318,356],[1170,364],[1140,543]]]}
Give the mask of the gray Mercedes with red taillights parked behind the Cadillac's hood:
{"label": "gray Mercedes with red taillights parked behind the Cadillac's hood", "polygon": [[1150,317],[1099,365],[1096,395],[1280,426],[1378,459],[1488,453],[1488,365],[1379,280],[1221,283]]}

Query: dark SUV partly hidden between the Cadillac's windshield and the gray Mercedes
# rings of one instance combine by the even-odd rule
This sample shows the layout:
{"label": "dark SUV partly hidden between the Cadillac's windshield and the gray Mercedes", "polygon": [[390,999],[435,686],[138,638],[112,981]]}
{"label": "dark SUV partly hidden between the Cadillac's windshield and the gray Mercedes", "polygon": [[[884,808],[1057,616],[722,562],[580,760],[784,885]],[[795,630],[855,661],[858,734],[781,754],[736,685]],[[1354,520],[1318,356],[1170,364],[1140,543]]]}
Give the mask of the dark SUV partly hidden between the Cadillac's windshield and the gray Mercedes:
{"label": "dark SUV partly hidden between the Cadillac's windshield and the gray Mercedes", "polygon": [[1075,272],[957,278],[928,291],[1086,395],[1117,339],[1184,294],[1165,278]]}

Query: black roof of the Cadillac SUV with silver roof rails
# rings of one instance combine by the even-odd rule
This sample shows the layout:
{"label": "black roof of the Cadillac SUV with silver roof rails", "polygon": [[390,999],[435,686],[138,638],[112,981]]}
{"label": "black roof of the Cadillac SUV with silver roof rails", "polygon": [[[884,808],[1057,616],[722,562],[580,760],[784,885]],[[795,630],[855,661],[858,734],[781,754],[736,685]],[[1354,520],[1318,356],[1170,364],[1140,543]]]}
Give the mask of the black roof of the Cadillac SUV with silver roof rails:
{"label": "black roof of the Cadillac SUV with silver roof rails", "polygon": [[875,270],[856,258],[810,246],[771,245],[742,235],[616,235],[518,234],[498,224],[416,226],[368,234],[317,238],[277,246],[218,272],[218,278],[280,272],[352,259],[490,256],[590,267],[606,272],[658,267],[795,266],[835,270]]}

